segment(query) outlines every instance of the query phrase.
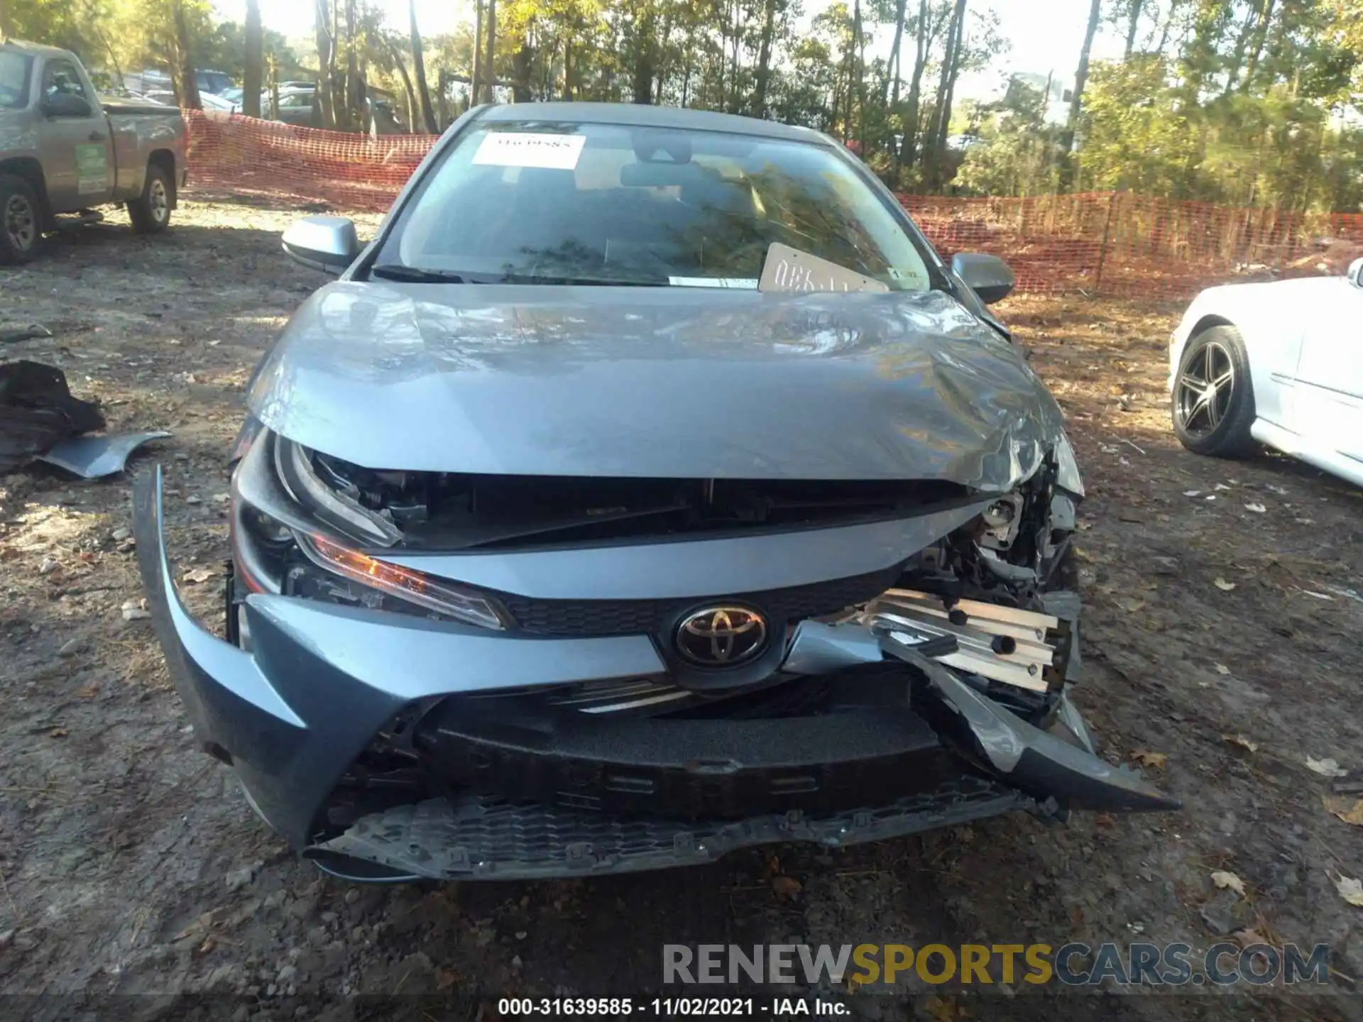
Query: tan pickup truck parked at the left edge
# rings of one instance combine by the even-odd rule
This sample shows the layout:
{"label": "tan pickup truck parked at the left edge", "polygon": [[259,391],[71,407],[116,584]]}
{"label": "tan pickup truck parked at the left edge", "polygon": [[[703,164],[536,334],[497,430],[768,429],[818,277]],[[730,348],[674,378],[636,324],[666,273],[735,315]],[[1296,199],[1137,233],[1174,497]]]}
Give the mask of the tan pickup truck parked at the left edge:
{"label": "tan pickup truck parked at the left edge", "polygon": [[109,203],[138,232],[165,230],[187,173],[179,110],[101,99],[74,53],[0,42],[0,264]]}

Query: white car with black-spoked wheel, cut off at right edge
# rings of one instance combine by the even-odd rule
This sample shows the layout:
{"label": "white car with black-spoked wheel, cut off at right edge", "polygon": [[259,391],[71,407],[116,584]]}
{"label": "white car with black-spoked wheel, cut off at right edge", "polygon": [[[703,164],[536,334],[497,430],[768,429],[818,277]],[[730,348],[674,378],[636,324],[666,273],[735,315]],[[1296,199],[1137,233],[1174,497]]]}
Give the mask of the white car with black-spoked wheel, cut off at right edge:
{"label": "white car with black-spoked wheel, cut off at right edge", "polygon": [[1266,444],[1363,486],[1363,259],[1202,292],[1169,343],[1169,394],[1190,451]]}

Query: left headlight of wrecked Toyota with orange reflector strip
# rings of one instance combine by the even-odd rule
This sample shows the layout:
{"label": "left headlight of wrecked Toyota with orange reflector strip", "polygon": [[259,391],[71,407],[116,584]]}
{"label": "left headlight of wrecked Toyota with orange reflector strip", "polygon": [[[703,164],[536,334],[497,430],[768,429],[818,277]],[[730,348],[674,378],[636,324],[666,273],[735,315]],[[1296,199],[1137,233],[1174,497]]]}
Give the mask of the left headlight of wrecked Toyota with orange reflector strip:
{"label": "left headlight of wrecked Toyota with orange reflector strip", "polygon": [[[361,548],[397,545],[402,530],[386,514],[364,507],[353,484],[349,492],[328,484],[313,458],[308,448],[269,431],[245,447],[232,477],[232,497],[233,545],[243,574],[249,572],[248,589],[282,591],[288,568],[278,561],[288,560],[292,548],[308,566],[412,609],[480,628],[506,627],[504,613],[476,590],[365,553]],[[263,567],[270,557],[277,564]]]}

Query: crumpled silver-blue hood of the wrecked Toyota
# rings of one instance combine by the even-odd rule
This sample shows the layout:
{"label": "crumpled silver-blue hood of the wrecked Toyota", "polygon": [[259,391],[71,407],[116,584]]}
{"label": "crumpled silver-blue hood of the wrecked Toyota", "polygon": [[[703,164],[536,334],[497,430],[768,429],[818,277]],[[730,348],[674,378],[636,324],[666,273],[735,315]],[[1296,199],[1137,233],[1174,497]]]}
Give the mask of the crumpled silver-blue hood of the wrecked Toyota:
{"label": "crumpled silver-blue hood of the wrecked Toyota", "polygon": [[940,292],[337,282],[249,406],[365,467],[523,476],[1000,491],[1062,436],[1018,349]]}

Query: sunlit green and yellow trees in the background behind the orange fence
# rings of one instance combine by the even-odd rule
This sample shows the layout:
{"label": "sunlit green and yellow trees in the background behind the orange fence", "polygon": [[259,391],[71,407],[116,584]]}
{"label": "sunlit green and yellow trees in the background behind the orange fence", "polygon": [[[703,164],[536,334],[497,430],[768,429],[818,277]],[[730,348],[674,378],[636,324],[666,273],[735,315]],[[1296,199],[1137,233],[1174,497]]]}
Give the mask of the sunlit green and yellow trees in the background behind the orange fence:
{"label": "sunlit green and yellow trees in the background behind the orange fence", "polygon": [[[339,1],[353,18],[338,18],[322,71],[343,76],[353,56],[369,89],[413,109],[409,26],[386,25],[369,0]],[[1104,30],[1130,53],[1092,63],[1071,120],[1065,72],[1050,97],[1021,79],[996,102],[955,95],[1009,45],[985,0],[810,0],[808,20],[800,3],[499,0],[491,72],[517,102],[661,102],[808,125],[905,189],[1126,188],[1303,211],[1363,202],[1363,0],[1103,0]],[[210,0],[0,0],[0,30],[75,49],[110,79],[176,67],[181,38],[194,67],[244,68],[243,29]],[[432,82],[468,80],[474,42],[472,25],[425,40]],[[303,67],[316,55],[277,34],[264,50],[284,78],[315,74]],[[444,121],[458,113],[451,95]]]}

